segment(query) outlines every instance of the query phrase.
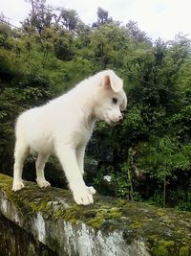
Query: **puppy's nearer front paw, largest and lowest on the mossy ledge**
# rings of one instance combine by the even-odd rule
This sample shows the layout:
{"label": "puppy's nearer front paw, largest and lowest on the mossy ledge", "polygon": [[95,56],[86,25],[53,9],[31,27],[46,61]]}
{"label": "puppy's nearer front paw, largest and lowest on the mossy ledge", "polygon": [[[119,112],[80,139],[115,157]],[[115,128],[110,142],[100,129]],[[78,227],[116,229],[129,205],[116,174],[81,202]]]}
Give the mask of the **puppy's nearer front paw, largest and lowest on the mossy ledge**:
{"label": "puppy's nearer front paw, largest and lowest on the mossy ledge", "polygon": [[89,205],[94,203],[92,194],[89,193],[87,187],[73,191],[74,201],[76,204]]}

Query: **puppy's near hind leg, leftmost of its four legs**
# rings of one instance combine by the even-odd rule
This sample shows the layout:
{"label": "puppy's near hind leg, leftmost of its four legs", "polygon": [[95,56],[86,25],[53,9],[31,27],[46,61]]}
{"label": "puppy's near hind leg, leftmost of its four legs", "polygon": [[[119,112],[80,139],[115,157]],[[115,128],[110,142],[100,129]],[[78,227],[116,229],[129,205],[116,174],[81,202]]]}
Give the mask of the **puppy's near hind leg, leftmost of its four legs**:
{"label": "puppy's near hind leg, leftmost of its four legs", "polygon": [[16,141],[14,150],[14,169],[12,190],[18,191],[24,188],[22,180],[24,161],[30,153],[30,147],[24,142]]}

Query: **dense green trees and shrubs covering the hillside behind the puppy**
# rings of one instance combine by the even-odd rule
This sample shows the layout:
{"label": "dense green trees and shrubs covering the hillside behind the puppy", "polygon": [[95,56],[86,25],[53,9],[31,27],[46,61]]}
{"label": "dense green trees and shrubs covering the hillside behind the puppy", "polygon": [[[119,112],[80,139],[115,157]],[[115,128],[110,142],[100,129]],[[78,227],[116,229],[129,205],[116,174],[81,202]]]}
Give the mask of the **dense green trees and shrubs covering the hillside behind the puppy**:
{"label": "dense green trees and shrubs covering the hillside behind the puppy", "polygon": [[[136,22],[122,26],[101,8],[88,26],[74,10],[30,2],[20,28],[0,15],[1,172],[12,174],[19,113],[112,68],[124,80],[128,109],[115,128],[97,124],[86,154],[88,182],[106,195],[191,210],[190,40],[180,34],[153,42]],[[33,178],[31,160],[25,169]],[[47,169],[59,185],[54,158]]]}

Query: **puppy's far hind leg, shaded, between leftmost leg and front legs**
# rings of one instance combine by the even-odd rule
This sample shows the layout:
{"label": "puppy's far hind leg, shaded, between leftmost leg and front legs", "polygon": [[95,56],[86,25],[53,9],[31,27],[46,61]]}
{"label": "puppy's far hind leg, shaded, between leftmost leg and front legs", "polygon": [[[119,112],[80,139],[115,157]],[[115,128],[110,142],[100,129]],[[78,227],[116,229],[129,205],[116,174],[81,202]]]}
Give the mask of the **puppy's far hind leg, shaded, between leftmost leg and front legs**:
{"label": "puppy's far hind leg, shaded, between leftmost leg and front legs", "polygon": [[46,161],[49,158],[49,154],[39,153],[35,162],[36,166],[36,182],[40,188],[50,187],[51,184],[45,179],[44,168]]}

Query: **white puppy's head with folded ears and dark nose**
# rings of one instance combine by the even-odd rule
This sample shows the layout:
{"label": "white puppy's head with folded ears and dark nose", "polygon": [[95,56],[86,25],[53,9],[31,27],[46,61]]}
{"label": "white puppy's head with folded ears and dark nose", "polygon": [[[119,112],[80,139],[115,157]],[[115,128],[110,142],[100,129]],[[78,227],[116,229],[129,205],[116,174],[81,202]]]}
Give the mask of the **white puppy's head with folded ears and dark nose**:
{"label": "white puppy's head with folded ears and dark nose", "polygon": [[94,112],[98,120],[113,125],[122,120],[121,111],[127,106],[123,82],[112,70],[102,71],[99,76]]}

